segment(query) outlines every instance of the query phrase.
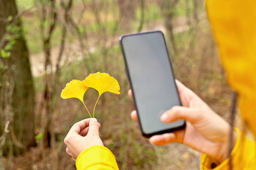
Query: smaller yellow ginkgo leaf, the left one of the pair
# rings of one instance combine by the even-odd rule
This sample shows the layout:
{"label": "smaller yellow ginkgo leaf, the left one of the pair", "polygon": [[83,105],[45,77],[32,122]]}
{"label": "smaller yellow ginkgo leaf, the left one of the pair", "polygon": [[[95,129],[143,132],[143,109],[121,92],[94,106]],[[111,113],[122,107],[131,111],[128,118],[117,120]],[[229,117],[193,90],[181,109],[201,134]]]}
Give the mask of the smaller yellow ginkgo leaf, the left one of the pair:
{"label": "smaller yellow ginkgo leaf, the left one of the pair", "polygon": [[72,80],[69,83],[67,83],[65,89],[61,91],[61,97],[63,99],[75,97],[84,103],[84,92],[86,92],[88,88],[89,87],[86,87],[84,83],[82,83],[82,81]]}

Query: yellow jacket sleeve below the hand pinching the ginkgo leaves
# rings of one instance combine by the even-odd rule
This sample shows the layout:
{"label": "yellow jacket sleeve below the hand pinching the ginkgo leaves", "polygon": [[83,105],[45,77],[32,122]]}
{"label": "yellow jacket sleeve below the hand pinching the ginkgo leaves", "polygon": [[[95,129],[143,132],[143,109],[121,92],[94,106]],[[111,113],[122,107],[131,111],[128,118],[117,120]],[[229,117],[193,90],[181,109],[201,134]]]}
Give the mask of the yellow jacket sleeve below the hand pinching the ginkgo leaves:
{"label": "yellow jacket sleeve below the hand pinching the ginkgo leaves", "polygon": [[76,159],[78,170],[117,170],[116,159],[113,153],[101,145],[86,148]]}

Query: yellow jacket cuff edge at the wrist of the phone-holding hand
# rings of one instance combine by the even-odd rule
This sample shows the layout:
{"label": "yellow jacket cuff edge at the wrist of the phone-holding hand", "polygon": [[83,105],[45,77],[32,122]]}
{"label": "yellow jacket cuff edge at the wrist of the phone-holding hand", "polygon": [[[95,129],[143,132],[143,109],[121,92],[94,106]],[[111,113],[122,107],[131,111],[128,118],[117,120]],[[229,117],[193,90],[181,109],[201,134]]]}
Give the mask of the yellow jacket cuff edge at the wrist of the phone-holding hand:
{"label": "yellow jacket cuff edge at the wrist of the phone-holding hand", "polygon": [[[234,157],[237,155],[237,152],[239,152],[239,147],[241,145],[241,132],[234,128],[234,130],[237,132],[237,139],[236,139],[236,144],[232,150],[232,152],[230,153],[230,157],[232,157],[232,159],[234,159]],[[229,161],[230,161],[230,157],[228,159],[225,159],[223,162],[218,162],[218,160],[212,159],[211,157],[209,157],[208,155],[206,155],[205,153],[202,153],[201,155],[201,162],[200,162],[200,169],[204,169],[204,170],[209,170],[209,169],[214,169],[214,170],[218,170],[218,169],[229,169]],[[233,160],[232,160],[233,162]]]}

